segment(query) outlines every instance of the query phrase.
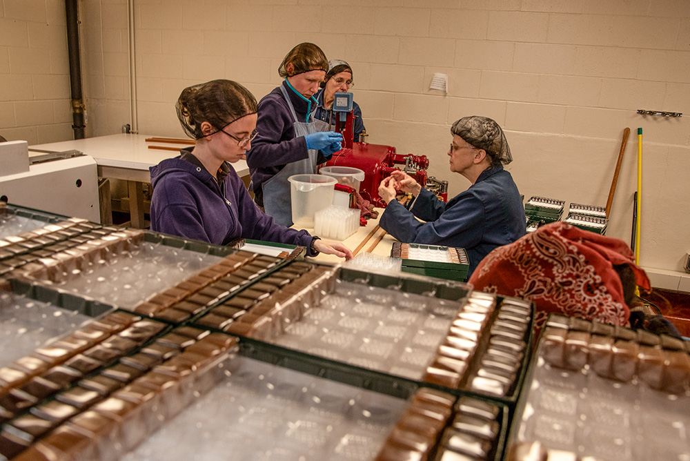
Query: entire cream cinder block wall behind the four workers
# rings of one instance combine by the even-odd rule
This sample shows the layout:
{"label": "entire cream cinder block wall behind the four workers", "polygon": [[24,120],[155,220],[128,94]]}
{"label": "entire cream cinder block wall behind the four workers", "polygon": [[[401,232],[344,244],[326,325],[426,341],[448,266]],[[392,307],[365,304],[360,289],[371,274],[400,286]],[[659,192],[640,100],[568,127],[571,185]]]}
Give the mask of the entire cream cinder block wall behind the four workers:
{"label": "entire cream cinder block wall behind the four workers", "polygon": [[[644,130],[646,268],[681,271],[690,251],[690,1],[134,0],[139,133],[182,135],[175,99],[215,78],[257,99],[277,86],[290,48],[313,41],[355,70],[369,141],[430,158],[454,195],[450,124],[492,117],[525,197],[604,206],[631,128],[607,235],[629,242]],[[63,1],[2,0],[0,133],[30,144],[70,139]],[[88,136],[131,122],[128,1],[83,0]],[[449,75],[444,95],[428,86]],[[637,109],[684,112],[642,117]]]}

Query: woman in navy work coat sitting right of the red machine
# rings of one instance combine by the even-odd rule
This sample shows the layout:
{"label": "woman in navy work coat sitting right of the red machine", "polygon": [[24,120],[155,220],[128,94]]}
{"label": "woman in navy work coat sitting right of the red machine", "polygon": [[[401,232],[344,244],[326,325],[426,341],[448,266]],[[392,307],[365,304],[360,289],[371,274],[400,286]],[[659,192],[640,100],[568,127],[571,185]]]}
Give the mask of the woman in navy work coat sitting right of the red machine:
{"label": "woman in navy work coat sitting right of the red machine", "polygon": [[[525,234],[524,206],[513,177],[503,169],[513,157],[501,127],[486,117],[464,117],[451,133],[451,171],[471,186],[446,204],[413,177],[393,171],[379,187],[388,204],[380,225],[401,242],[465,248],[469,277],[493,248]],[[410,210],[394,200],[397,190],[417,196]]]}

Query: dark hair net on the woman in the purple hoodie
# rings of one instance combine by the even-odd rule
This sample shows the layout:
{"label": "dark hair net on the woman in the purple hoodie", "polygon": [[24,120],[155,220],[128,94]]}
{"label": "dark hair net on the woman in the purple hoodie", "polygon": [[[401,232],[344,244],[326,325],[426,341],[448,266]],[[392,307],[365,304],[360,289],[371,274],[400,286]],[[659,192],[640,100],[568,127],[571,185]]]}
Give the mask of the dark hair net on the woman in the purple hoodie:
{"label": "dark hair net on the woman in the purple hoodie", "polygon": [[184,132],[201,139],[201,123],[208,121],[216,130],[237,119],[257,112],[257,100],[252,93],[230,80],[212,80],[182,90],[177,98],[177,118]]}

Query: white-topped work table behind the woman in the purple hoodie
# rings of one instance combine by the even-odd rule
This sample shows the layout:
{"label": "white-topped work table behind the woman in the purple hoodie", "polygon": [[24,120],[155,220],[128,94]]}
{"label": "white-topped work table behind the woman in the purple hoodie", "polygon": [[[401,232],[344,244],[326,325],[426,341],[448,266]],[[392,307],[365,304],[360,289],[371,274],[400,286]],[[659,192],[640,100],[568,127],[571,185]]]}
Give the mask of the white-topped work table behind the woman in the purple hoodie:
{"label": "white-topped work table behind the woman in the purple hoodie", "polygon": [[[30,155],[39,155],[45,151],[79,150],[79,152],[93,157],[98,167],[99,177],[124,179],[128,182],[132,227],[144,228],[144,195],[141,185],[151,182],[148,168],[159,164],[161,160],[176,157],[179,155],[179,149],[185,147],[184,144],[146,141],[147,138],[151,137],[153,136],[129,133],[90,137],[29,146],[29,153]],[[194,140],[190,139],[188,146],[193,145]],[[246,161],[237,161],[233,167],[240,177],[249,175]],[[101,213],[101,215],[103,214],[107,215],[108,213]]]}

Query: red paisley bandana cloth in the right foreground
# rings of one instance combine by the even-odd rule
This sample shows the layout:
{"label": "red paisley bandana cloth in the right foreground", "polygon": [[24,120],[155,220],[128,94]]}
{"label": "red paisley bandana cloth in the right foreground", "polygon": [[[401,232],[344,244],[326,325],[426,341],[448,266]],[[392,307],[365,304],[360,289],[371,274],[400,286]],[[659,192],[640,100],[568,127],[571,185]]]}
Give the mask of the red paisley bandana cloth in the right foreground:
{"label": "red paisley bandana cloth in the right foreground", "polygon": [[549,313],[626,326],[630,309],[613,264],[628,264],[638,286],[649,279],[620,239],[555,222],[486,255],[469,283],[476,290],[521,297],[536,306],[538,332]]}

